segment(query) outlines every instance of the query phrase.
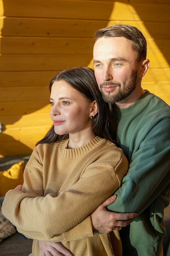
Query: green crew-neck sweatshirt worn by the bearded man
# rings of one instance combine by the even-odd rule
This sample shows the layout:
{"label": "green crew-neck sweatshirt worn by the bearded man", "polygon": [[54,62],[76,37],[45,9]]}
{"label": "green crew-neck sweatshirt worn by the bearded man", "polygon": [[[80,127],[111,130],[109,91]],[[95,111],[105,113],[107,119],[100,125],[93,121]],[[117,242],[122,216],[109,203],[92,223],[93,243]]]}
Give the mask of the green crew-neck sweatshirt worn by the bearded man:
{"label": "green crew-neck sweatshirt worn by the bearded man", "polygon": [[170,106],[146,90],[129,108],[112,106],[111,111],[116,144],[128,158],[129,171],[108,210],[139,214],[120,231],[123,256],[159,256],[169,204]]}

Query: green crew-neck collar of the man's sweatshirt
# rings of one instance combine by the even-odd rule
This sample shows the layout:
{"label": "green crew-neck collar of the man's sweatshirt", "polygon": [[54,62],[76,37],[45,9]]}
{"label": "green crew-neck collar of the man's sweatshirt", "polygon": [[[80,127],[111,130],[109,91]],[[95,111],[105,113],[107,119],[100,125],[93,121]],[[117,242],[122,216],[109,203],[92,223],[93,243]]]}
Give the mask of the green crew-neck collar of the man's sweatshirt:
{"label": "green crew-neck collar of the man's sweatshirt", "polygon": [[145,93],[131,106],[125,109],[117,109],[115,106],[111,105],[111,112],[114,116],[128,116],[138,111],[140,108],[143,108],[144,104],[147,104],[147,101],[150,97],[154,96],[148,90],[145,90]]}

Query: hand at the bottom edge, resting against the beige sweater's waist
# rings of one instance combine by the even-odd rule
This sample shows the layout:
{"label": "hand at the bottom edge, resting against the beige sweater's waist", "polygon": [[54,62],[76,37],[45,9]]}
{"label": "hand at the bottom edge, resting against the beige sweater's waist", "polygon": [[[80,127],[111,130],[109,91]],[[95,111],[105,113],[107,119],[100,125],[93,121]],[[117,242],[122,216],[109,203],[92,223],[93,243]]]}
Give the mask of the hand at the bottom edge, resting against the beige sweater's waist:
{"label": "hand at the bottom edge, resting against the beige sweater's waist", "polygon": [[61,243],[38,241],[42,256],[73,256]]}

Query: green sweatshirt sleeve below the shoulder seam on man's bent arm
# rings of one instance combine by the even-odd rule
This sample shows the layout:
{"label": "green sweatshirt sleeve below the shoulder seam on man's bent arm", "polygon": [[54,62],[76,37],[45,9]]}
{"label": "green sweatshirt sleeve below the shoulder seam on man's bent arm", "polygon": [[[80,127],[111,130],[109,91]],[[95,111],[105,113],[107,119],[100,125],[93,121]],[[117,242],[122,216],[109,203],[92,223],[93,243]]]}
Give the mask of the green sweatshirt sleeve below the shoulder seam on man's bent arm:
{"label": "green sweatshirt sleeve below the shoulder seam on man's bent arm", "polygon": [[[152,151],[151,151],[152,148]],[[170,182],[170,147],[142,146],[134,154],[117,200],[107,208],[113,212],[143,212]]]}

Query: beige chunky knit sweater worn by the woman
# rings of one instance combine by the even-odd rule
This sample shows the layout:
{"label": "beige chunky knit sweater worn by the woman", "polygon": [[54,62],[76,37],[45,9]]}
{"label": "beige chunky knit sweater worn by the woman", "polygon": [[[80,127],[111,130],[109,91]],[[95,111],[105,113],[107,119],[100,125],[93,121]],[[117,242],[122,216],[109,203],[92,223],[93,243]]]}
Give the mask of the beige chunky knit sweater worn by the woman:
{"label": "beige chunky knit sweater worn by the woman", "polygon": [[36,146],[22,191],[7,193],[2,212],[34,239],[33,256],[41,255],[37,240],[62,242],[74,256],[121,256],[118,231],[94,236],[90,213],[119,188],[128,161],[120,148],[100,137],[72,150],[67,144]]}

